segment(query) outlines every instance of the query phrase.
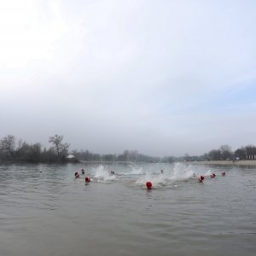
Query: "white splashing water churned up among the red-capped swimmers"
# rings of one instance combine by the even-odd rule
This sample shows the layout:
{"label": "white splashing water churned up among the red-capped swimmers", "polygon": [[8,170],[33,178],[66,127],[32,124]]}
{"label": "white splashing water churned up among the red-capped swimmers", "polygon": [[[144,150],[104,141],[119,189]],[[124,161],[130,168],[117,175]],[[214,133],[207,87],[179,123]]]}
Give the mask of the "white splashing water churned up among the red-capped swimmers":
{"label": "white splashing water churned up among the red-capped swimmers", "polygon": [[[161,170],[164,171],[161,173]],[[111,171],[114,171],[114,174],[111,173]],[[145,184],[150,181],[153,183],[153,189],[177,187],[177,185],[183,181],[196,178],[198,175],[203,174],[204,172],[199,170],[195,173],[193,166],[184,163],[175,163],[172,165],[100,165],[91,170],[93,178],[92,180],[97,183],[120,182],[125,183],[128,186],[145,188]],[[208,172],[210,173],[210,171]]]}

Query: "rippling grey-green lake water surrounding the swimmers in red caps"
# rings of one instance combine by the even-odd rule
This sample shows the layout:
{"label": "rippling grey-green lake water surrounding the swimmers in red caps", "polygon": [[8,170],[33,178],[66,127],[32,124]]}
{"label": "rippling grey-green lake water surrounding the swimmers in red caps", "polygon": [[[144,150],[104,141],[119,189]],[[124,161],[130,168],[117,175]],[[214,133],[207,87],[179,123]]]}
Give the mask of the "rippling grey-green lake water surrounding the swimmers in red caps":
{"label": "rippling grey-green lake water surrounding the swimmers in red caps", "polygon": [[255,200],[255,168],[0,165],[0,255],[256,255]]}

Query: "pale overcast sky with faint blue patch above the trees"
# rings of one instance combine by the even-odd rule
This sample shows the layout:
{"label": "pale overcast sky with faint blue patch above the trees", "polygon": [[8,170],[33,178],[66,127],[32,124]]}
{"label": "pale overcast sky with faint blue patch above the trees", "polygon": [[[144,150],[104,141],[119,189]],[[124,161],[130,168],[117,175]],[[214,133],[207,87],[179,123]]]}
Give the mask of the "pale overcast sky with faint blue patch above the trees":
{"label": "pale overcast sky with faint blue patch above the trees", "polygon": [[0,1],[0,137],[155,156],[256,144],[256,1]]}

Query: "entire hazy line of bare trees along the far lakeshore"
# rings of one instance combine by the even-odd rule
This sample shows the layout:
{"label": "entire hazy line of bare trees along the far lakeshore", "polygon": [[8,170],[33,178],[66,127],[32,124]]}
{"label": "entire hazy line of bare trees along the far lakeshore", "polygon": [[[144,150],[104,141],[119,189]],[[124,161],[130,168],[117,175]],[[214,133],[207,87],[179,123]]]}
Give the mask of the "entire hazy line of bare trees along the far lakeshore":
{"label": "entire hazy line of bare trees along the far lakeshore", "polygon": [[[140,154],[137,150],[125,150],[123,154],[94,154],[89,150],[69,151],[70,144],[63,143],[63,136],[49,137],[51,147],[43,148],[41,143],[26,143],[16,140],[15,136],[8,135],[0,139],[0,160],[19,160],[27,162],[64,162],[64,161],[111,161],[111,162],[148,162],[172,163],[176,161],[201,161],[201,160],[256,160],[256,147],[248,145],[232,151],[229,145],[222,145],[200,156],[153,157]],[[74,158],[67,158],[72,154]]]}

